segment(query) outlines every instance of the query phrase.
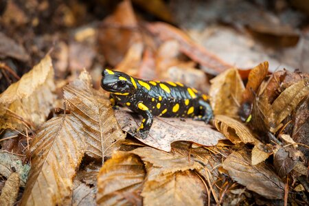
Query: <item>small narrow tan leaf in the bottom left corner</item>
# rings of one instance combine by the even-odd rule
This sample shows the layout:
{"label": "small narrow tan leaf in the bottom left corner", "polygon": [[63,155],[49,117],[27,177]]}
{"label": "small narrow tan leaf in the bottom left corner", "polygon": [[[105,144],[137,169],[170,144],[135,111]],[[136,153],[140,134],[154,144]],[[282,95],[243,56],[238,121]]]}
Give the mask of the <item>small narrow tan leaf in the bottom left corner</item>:
{"label": "small narrow tan leaf in the bottom left corner", "polygon": [[17,195],[19,194],[19,174],[13,172],[5,185],[1,190],[0,205],[1,206],[11,206],[16,202]]}

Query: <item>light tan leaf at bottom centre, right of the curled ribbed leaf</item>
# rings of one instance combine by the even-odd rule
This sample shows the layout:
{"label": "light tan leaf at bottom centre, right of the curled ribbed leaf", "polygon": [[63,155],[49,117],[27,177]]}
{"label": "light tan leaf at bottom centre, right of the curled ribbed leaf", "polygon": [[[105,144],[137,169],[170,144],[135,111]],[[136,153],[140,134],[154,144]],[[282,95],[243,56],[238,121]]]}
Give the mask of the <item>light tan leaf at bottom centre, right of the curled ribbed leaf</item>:
{"label": "light tan leaf at bottom centre, right of the curled ribbed leaf", "polygon": [[[154,172],[156,168],[149,168]],[[157,172],[154,172],[157,173]],[[190,170],[160,176],[147,180],[141,196],[144,205],[204,205],[205,185],[197,174]]]}

